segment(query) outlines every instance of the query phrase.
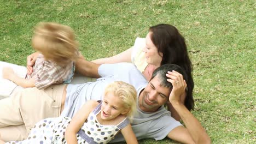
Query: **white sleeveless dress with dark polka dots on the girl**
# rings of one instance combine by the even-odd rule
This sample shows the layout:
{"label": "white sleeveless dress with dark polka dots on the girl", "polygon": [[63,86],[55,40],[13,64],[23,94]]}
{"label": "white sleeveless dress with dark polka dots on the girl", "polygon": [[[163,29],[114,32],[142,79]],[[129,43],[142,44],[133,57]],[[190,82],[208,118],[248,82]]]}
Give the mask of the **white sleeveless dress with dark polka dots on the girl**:
{"label": "white sleeveless dress with dark polka dots on the girl", "polygon": [[[97,114],[101,110],[102,102],[92,111],[82,128],[77,133],[78,143],[108,143],[114,139],[114,135],[127,124],[127,117],[118,125],[102,125],[97,121]],[[67,143],[65,131],[71,118],[58,117],[46,118],[38,122],[31,130],[30,135],[24,141],[11,141],[7,143]]]}

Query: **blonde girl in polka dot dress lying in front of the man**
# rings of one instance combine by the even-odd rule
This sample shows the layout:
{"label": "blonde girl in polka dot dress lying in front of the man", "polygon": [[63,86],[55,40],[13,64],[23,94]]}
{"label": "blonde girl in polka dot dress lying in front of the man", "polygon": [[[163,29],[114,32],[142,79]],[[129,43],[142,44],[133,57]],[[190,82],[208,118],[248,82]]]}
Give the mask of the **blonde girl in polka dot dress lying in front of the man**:
{"label": "blonde girl in polka dot dress lying in front of the man", "polygon": [[110,83],[102,101],[88,101],[72,120],[43,119],[26,140],[7,143],[108,143],[118,131],[127,143],[138,143],[129,122],[136,111],[136,98],[133,86],[121,81]]}

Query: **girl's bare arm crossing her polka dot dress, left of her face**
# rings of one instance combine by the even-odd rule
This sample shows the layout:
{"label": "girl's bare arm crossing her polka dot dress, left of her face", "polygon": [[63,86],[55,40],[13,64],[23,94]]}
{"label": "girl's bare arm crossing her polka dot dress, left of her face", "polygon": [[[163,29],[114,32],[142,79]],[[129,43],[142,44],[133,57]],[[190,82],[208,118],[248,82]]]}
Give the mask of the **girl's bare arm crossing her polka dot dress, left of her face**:
{"label": "girl's bare arm crossing her polka dot dress, left of her face", "polygon": [[77,144],[77,132],[88,118],[89,113],[98,105],[97,101],[87,101],[82,108],[75,113],[65,132],[67,143]]}

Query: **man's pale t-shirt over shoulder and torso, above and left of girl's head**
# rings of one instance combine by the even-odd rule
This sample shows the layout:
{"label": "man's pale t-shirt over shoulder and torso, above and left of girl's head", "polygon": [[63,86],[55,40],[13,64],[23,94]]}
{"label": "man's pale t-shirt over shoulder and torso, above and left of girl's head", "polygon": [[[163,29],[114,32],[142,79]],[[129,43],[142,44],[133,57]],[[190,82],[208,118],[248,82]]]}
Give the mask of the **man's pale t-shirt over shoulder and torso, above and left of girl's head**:
{"label": "man's pale t-shirt over shoulder and torso, above and left of girl's head", "polygon": [[131,63],[102,64],[98,68],[101,76],[96,82],[78,85],[69,84],[63,117],[73,117],[87,100],[101,100],[105,87],[113,81],[124,81],[136,88],[137,94],[147,86],[148,82],[141,72]]}

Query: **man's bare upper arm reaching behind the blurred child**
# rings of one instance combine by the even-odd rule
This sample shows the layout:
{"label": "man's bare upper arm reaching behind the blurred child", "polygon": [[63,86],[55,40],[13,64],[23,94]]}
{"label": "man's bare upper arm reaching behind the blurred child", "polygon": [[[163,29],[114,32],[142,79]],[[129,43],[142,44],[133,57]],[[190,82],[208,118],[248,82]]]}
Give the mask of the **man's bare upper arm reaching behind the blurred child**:
{"label": "man's bare upper arm reaching behind the blurred child", "polygon": [[95,78],[100,77],[100,75],[98,74],[98,67],[100,67],[100,64],[86,61],[81,53],[75,61],[75,71],[84,76]]}

